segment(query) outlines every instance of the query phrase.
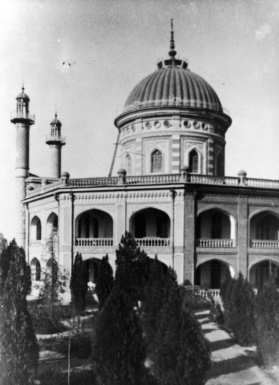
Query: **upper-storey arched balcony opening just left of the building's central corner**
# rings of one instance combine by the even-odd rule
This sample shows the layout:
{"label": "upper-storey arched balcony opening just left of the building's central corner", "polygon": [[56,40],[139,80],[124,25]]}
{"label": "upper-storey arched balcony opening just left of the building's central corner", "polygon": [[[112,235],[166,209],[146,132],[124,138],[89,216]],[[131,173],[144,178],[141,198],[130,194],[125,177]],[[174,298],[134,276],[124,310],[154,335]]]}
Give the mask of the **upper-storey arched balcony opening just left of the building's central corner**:
{"label": "upper-storey arched balcony opening just left of the building's central corner", "polygon": [[154,208],[143,209],[130,219],[130,231],[142,246],[169,245],[170,227],[168,214]]}

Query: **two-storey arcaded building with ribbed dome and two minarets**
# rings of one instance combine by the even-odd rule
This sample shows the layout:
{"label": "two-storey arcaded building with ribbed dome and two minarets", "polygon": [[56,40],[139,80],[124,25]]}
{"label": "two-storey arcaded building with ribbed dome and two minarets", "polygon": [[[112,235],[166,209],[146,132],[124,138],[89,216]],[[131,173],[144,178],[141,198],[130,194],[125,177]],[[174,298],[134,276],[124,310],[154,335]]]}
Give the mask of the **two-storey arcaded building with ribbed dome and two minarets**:
{"label": "two-storey arcaded building with ribbed dome and two minarets", "polygon": [[[29,98],[17,97],[18,236],[34,281],[47,240],[70,278],[82,254],[88,281],[102,257],[115,271],[115,250],[130,231],[150,258],[216,296],[229,271],[242,272],[255,289],[270,275],[279,286],[279,181],[224,175],[225,135],[231,118],[201,76],[169,57],[141,80],[116,117],[122,167],[118,176],[71,179],[61,174],[61,122],[51,121],[46,143],[51,175],[29,172]],[[113,157],[115,159],[116,152]]]}

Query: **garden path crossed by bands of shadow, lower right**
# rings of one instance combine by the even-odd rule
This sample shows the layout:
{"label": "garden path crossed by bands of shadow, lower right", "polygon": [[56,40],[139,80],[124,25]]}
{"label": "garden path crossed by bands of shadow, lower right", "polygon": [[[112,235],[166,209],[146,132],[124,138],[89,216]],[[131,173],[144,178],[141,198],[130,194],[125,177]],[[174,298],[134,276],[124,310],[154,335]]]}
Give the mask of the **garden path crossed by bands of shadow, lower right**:
{"label": "garden path crossed by bands of shadow, lower right", "polygon": [[255,347],[243,348],[208,319],[209,310],[196,313],[204,335],[210,342],[212,368],[206,385],[278,385],[249,356]]}

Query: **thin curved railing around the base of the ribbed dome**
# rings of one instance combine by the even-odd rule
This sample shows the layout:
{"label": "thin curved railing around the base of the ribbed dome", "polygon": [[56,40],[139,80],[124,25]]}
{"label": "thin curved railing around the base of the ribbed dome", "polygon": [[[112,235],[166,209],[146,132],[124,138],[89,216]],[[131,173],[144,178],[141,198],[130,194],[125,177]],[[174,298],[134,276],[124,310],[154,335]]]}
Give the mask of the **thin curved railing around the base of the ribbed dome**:
{"label": "thin curved railing around the base of the ribbed dome", "polygon": [[223,112],[221,104],[214,102],[206,102],[204,100],[196,99],[180,99],[180,97],[174,97],[172,99],[161,99],[161,100],[146,100],[144,102],[134,102],[133,104],[126,105],[123,112],[128,112],[135,109],[150,108],[150,107],[197,107],[197,108],[208,108],[211,110]]}

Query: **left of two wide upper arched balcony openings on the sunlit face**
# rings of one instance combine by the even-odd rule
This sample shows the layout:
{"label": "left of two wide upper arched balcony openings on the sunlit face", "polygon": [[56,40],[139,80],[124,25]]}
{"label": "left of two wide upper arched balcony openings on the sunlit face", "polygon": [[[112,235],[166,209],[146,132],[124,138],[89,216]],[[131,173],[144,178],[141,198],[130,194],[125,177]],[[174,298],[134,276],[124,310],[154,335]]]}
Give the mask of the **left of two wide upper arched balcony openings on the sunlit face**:
{"label": "left of two wide upper arched balcony openings on the sunlit face", "polygon": [[76,218],[75,236],[79,246],[112,246],[113,219],[105,211],[88,210]]}

